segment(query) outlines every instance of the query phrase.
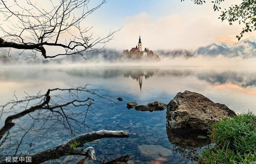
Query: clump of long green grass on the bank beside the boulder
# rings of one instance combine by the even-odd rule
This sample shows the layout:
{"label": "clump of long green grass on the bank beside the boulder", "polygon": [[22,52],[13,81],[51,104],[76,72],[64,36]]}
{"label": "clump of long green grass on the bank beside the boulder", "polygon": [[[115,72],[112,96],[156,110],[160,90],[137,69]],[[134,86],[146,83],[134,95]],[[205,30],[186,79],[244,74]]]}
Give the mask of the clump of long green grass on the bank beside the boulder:
{"label": "clump of long green grass on the bank beside the boulder", "polygon": [[199,163],[256,164],[256,116],[252,112],[213,124],[210,139],[215,145],[202,152]]}

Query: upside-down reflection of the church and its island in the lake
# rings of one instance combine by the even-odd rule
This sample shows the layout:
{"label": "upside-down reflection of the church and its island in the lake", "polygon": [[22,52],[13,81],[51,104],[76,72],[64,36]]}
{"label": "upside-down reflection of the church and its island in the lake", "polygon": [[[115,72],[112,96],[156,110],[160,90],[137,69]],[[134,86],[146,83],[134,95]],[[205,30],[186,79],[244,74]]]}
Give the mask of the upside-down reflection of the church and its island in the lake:
{"label": "upside-down reflection of the church and its island in the lake", "polygon": [[153,71],[142,71],[142,70],[135,70],[131,72],[127,72],[124,74],[124,77],[129,77],[131,76],[132,79],[136,79],[137,82],[139,81],[139,86],[140,86],[140,91],[142,89],[142,83],[143,83],[143,76],[147,80],[150,76],[153,76],[154,72]]}

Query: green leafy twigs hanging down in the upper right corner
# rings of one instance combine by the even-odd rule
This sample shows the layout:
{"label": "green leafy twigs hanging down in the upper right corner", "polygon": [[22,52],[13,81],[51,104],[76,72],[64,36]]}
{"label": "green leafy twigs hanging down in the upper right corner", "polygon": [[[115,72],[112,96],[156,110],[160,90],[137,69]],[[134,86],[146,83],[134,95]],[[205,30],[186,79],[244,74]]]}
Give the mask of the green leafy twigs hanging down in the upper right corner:
{"label": "green leafy twigs hanging down in the upper right corner", "polygon": [[[184,1],[184,0],[181,0]],[[191,0],[197,5],[202,5],[205,3],[205,0]],[[221,7],[219,5],[224,0],[214,0],[211,1],[214,11],[219,11]],[[256,31],[256,1],[255,0],[242,0],[242,3],[239,5],[231,5],[228,9],[221,11],[219,19],[221,21],[229,21],[229,25],[233,25],[234,22],[238,21],[239,24],[244,24],[245,27],[242,28],[242,31],[238,38],[238,41],[244,35],[245,32]]]}

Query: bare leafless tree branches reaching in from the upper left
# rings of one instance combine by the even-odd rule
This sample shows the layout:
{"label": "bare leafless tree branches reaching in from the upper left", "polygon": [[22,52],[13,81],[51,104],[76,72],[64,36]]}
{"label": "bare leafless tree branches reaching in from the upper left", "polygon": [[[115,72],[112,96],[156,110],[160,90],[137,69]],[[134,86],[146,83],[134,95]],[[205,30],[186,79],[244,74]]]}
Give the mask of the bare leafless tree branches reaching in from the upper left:
{"label": "bare leafless tree branches reaching in from the upper left", "polygon": [[[113,39],[117,31],[109,31],[108,35],[93,38],[92,27],[81,24],[91,13],[106,3],[89,8],[90,0],[48,0],[47,8],[37,5],[37,1],[24,2],[0,0],[0,48],[7,48],[9,56],[11,48],[37,52],[46,58],[61,55],[79,54],[101,49],[105,43]],[[96,45],[101,44],[101,48]],[[48,55],[46,47],[59,47],[63,52]],[[21,54],[20,53],[20,54]]]}

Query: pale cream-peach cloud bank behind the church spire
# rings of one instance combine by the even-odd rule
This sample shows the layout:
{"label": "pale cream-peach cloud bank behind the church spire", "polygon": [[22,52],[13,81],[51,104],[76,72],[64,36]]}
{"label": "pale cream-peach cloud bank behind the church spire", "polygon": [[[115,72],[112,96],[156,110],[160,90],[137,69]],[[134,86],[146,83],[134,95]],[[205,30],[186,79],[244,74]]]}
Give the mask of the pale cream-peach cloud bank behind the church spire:
{"label": "pale cream-peach cloud bank behind the church spire", "polygon": [[[218,19],[220,12],[214,12],[212,4],[197,6],[184,4],[181,11],[158,16],[143,11],[123,19],[123,29],[107,47],[126,49],[134,47],[141,36],[143,48],[150,49],[195,49],[216,41],[237,42],[242,25]],[[226,4],[226,6],[229,6]],[[188,10],[189,9],[189,10]],[[244,38],[252,36],[246,33]]]}

